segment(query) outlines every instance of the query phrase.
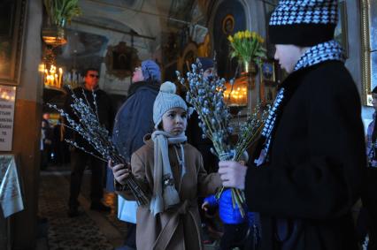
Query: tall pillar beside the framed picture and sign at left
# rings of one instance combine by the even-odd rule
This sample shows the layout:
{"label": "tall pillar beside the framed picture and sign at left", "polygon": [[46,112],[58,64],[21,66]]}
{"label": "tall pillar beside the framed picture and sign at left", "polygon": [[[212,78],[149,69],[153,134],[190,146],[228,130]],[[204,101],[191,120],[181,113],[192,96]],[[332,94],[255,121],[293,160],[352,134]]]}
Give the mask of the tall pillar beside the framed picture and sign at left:
{"label": "tall pillar beside the framed picture and sign at left", "polygon": [[11,217],[12,249],[35,249],[38,210],[42,80],[42,1],[27,1],[23,56],[17,87],[12,154],[17,155],[25,209]]}

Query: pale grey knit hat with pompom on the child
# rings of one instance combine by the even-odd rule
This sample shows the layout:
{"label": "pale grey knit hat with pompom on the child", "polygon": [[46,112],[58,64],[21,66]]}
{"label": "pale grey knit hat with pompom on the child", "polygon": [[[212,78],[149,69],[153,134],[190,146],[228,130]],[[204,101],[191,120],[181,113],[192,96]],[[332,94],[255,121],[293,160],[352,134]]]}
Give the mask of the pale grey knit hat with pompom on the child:
{"label": "pale grey knit hat with pompom on the child", "polygon": [[183,101],[180,95],[175,95],[175,91],[175,84],[170,81],[165,81],[159,88],[158,96],[153,104],[153,122],[155,123],[155,128],[158,128],[162,116],[167,110],[172,110],[173,108],[188,110],[186,102]]}

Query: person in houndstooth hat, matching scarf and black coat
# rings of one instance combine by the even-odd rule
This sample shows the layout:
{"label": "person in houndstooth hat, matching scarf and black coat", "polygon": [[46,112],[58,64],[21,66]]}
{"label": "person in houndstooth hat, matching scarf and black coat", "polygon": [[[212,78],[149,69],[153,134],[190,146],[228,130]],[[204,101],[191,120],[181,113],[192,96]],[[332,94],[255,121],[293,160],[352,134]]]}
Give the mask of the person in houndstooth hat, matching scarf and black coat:
{"label": "person in houndstooth hat, matching scarf and black coat", "polygon": [[224,186],[260,213],[263,250],[358,249],[351,208],[365,170],[358,89],[335,42],[336,0],[281,1],[269,37],[289,72],[249,168],[220,162]]}

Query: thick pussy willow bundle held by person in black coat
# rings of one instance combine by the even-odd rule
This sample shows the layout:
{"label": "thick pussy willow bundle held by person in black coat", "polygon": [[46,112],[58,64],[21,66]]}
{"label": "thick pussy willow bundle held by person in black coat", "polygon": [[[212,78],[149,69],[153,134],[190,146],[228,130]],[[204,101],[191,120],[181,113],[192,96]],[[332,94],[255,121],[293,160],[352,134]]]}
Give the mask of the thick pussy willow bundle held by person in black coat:
{"label": "thick pussy willow bundle held by person in black coat", "polygon": [[[214,71],[216,72],[216,70]],[[204,78],[204,72],[200,61],[192,64],[191,71],[187,73],[187,79],[176,72],[178,80],[187,89],[186,101],[196,110],[201,122],[199,126],[203,130],[203,137],[212,140],[212,154],[219,157],[220,161],[240,161],[247,148],[253,144],[261,133],[267,110],[257,107],[247,118],[246,123],[241,125],[238,141],[232,145],[229,138],[234,131],[229,122],[232,118],[227,103],[224,101],[225,80],[220,79],[214,73],[210,78]],[[231,80],[232,84],[233,80]],[[219,189],[216,198],[223,192],[224,187]],[[245,198],[242,190],[232,188],[233,206],[239,208],[241,215],[245,216]]]}

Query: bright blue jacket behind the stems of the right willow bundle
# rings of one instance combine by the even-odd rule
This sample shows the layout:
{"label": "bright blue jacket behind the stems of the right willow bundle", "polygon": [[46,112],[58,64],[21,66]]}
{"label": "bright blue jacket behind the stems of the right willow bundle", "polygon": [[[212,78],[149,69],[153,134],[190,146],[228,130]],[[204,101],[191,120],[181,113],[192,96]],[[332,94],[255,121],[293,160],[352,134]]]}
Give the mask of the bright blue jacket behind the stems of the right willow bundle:
{"label": "bright blue jacket behind the stems of the right willow bundle", "polygon": [[[254,223],[254,213],[248,212],[247,216],[242,217],[237,204],[235,204],[235,208],[233,208],[232,191],[230,189],[224,190],[219,200],[216,199],[214,195],[211,195],[205,198],[204,201],[207,201],[210,207],[219,206],[219,216],[223,223],[238,224],[247,222],[250,225]],[[244,210],[247,211],[246,206]]]}

